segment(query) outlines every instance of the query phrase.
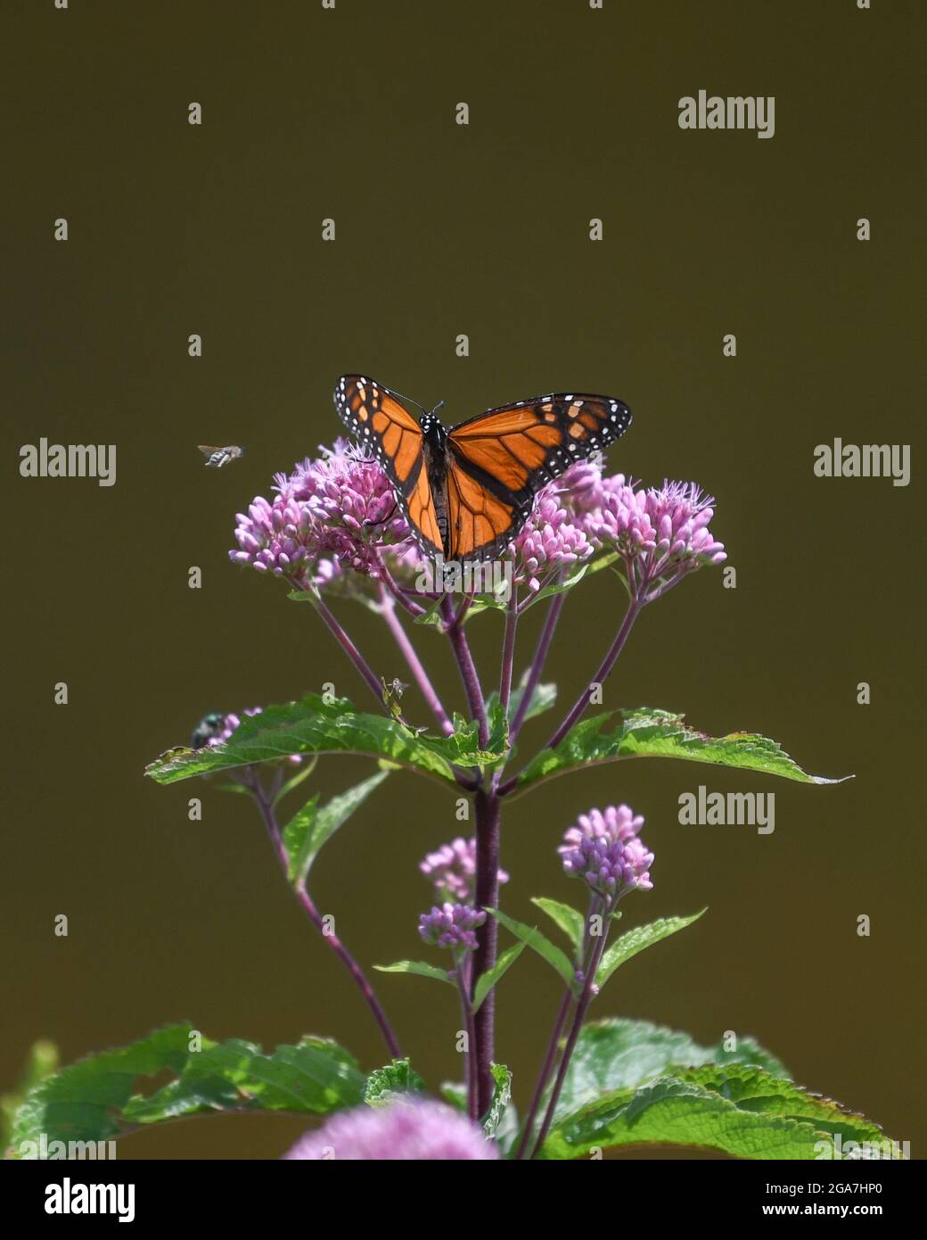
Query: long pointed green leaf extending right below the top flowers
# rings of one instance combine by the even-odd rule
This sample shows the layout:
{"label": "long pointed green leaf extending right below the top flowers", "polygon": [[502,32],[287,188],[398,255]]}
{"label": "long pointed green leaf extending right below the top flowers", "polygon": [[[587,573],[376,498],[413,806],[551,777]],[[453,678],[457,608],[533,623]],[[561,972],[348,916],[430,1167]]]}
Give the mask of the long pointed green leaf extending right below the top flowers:
{"label": "long pointed green leaf extending right below the top flowers", "polygon": [[[611,730],[606,724],[613,723]],[[513,795],[568,771],[621,758],[684,758],[740,770],[780,775],[803,784],[840,784],[839,779],[808,775],[775,740],[750,732],[706,737],[683,723],[683,715],[642,707],[611,711],[584,719],[555,749],[544,749],[518,776]],[[844,776],[851,779],[853,776]]]}

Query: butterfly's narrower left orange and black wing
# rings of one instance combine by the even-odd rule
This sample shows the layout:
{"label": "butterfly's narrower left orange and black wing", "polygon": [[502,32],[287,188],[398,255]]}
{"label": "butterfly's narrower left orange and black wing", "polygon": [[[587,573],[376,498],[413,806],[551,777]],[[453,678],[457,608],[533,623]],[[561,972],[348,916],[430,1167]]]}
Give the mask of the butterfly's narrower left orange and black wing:
{"label": "butterfly's narrower left orange and black wing", "polygon": [[335,408],[357,441],[377,458],[397,502],[426,554],[442,549],[437,512],[421,451],[421,427],[395,393],[363,374],[342,374]]}

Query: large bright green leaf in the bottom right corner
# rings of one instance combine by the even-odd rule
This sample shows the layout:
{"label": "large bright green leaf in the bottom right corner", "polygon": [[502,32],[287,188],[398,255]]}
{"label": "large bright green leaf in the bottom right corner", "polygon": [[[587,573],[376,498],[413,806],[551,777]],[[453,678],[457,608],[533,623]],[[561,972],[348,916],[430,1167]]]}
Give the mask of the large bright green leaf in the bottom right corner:
{"label": "large bright green leaf in the bottom right corner", "polygon": [[739,1158],[814,1159],[827,1157],[837,1133],[844,1142],[884,1140],[877,1125],[762,1068],[708,1064],[600,1096],[554,1126],[543,1157],[675,1145]]}

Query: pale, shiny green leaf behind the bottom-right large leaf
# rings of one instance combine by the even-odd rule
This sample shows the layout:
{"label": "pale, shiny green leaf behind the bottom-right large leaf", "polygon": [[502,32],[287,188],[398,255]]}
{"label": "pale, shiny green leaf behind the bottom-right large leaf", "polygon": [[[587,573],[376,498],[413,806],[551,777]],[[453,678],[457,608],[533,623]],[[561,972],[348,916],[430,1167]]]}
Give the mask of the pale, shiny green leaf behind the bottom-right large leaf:
{"label": "pale, shiny green leaf behind the bottom-right large leaf", "polygon": [[737,1038],[737,1049],[726,1052],[703,1047],[688,1033],[651,1024],[648,1021],[611,1018],[584,1024],[570,1059],[554,1121],[594,1102],[613,1090],[635,1090],[649,1080],[667,1075],[674,1065],[698,1068],[701,1064],[744,1063],[762,1068],[773,1076],[788,1079],[775,1055],[752,1038]]}

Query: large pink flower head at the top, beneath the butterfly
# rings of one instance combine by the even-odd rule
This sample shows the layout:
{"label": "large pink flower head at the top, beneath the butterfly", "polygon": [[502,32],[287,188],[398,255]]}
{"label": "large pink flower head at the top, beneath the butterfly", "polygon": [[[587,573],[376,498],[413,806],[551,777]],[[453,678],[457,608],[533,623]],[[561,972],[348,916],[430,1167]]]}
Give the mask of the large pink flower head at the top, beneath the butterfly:
{"label": "large pink flower head at the top, beneath the butterfly", "polygon": [[[410,584],[423,557],[379,463],[343,439],[321,454],[278,474],[273,502],[258,496],[238,515],[232,560],[304,587],[348,590],[352,570],[379,578],[385,560]],[[647,599],[726,559],[709,529],[713,505],[694,482],[644,489],[623,474],[604,477],[601,460],[590,458],[538,492],[504,554],[516,583],[537,593],[597,551],[615,551],[631,593]]]}

